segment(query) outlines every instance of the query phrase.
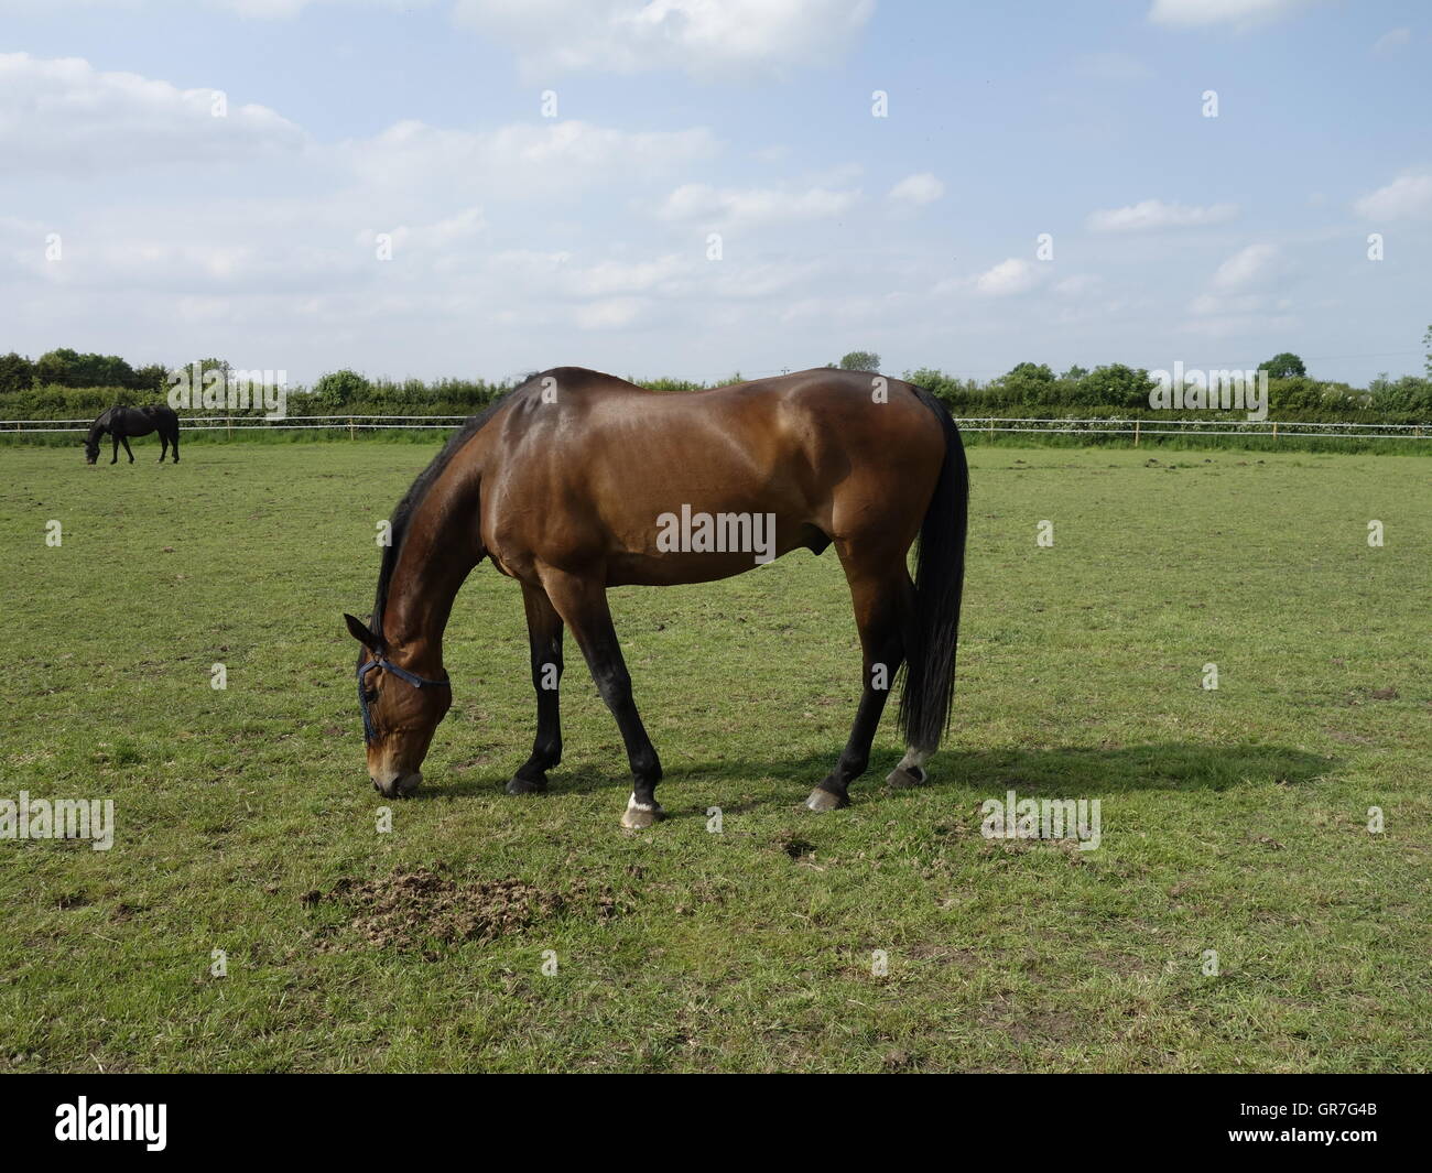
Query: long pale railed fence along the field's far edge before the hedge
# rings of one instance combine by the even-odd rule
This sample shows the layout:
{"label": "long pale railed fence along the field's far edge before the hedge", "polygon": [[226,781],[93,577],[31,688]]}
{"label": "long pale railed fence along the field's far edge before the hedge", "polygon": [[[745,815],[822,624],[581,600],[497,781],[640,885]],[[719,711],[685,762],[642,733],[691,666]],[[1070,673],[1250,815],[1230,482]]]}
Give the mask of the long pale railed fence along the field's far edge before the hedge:
{"label": "long pale railed fence along the field's far edge before the hedge", "polygon": [[[467,415],[294,415],[263,420],[253,415],[190,415],[180,423],[189,431],[424,431],[451,430]],[[1421,440],[1432,435],[1429,424],[1315,424],[1297,420],[1067,420],[1060,417],[967,415],[955,417],[965,431],[1032,433],[1044,435],[1131,435],[1134,444],[1144,435],[1266,435],[1316,437],[1326,440]],[[77,424],[79,427],[60,427]],[[0,435],[32,433],[84,433],[93,420],[0,420]],[[1158,424],[1160,427],[1150,427]],[[1335,431],[1336,430],[1336,431]]]}

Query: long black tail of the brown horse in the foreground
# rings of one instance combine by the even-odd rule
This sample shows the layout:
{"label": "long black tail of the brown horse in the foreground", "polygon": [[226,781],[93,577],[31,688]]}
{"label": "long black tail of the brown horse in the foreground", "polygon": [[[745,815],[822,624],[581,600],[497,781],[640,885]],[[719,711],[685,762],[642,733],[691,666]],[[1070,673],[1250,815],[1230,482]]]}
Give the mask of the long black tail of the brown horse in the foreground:
{"label": "long black tail of the brown horse in the foreground", "polygon": [[959,428],[945,405],[922,387],[912,388],[945,434],[935,496],[919,526],[915,554],[915,614],[906,623],[905,689],[899,722],[905,745],[934,753],[949,728],[955,693],[955,643],[965,584],[965,531],[969,521],[969,465]]}

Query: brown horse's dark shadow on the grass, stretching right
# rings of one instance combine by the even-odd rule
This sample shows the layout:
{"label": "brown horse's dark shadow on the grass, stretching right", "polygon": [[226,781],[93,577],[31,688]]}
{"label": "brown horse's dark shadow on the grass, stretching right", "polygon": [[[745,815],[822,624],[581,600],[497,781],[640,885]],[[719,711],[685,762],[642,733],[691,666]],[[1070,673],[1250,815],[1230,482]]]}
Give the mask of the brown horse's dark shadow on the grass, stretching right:
{"label": "brown horse's dark shadow on the grass, stretching right", "polygon": [[[838,748],[829,755],[786,758],[727,758],[717,762],[683,763],[667,768],[662,783],[673,799],[679,786],[689,793],[692,783],[713,782],[727,786],[749,779],[769,789],[769,781],[789,783],[792,802],[806,796],[835,763]],[[852,795],[869,796],[884,791],[885,775],[895,768],[899,753],[876,752],[869,771],[851,783]],[[967,789],[981,795],[1002,795],[1007,789],[1050,798],[1098,798],[1128,791],[1226,791],[1240,785],[1282,783],[1299,786],[1336,768],[1336,761],[1280,745],[1197,742],[1160,742],[1117,749],[1093,746],[1055,746],[1053,749],[945,749],[929,765],[927,789]],[[491,768],[465,772],[465,776],[441,776],[431,789],[417,796],[491,793],[501,791],[505,775]],[[614,758],[610,769],[563,769],[550,775],[551,793],[587,793],[599,789],[627,789],[632,785],[626,763]],[[662,793],[663,791],[659,791]]]}

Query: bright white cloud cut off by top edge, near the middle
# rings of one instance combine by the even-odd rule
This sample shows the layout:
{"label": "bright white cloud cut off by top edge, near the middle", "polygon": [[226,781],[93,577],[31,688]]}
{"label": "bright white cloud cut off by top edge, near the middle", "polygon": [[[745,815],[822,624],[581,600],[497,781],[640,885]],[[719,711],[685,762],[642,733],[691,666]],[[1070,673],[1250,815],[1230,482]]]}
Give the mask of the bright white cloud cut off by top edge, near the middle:
{"label": "bright white cloud cut off by top edge, near the middle", "polygon": [[838,56],[875,0],[457,0],[454,20],[511,44],[528,76],[677,69],[712,77]]}

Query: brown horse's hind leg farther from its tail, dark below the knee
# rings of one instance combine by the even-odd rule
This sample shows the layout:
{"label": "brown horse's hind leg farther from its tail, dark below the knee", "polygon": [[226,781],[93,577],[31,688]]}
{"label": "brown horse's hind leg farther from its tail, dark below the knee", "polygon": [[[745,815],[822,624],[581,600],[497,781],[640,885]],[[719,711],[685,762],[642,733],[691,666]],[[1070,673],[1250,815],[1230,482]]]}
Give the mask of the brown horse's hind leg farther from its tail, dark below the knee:
{"label": "brown horse's hind leg farther from its tail, dark below the knee", "polygon": [[851,583],[855,623],[861,632],[863,686],[855,725],[841,761],[806,799],[806,806],[812,811],[832,811],[848,805],[851,782],[865,773],[869,765],[871,742],[881,723],[881,713],[885,712],[895,673],[905,659],[904,626],[915,600],[915,586],[905,570],[904,556],[885,559],[882,566],[866,566],[848,549],[842,549],[841,563]]}

